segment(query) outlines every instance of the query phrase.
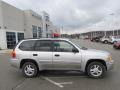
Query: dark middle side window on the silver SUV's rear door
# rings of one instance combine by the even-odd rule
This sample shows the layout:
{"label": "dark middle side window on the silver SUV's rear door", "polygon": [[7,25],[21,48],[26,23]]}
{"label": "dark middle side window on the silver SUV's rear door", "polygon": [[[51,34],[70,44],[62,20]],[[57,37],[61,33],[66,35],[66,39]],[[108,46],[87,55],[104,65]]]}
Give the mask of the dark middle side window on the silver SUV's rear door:
{"label": "dark middle side window on the silver SUV's rear door", "polygon": [[52,51],[52,42],[39,40],[36,42],[35,51]]}

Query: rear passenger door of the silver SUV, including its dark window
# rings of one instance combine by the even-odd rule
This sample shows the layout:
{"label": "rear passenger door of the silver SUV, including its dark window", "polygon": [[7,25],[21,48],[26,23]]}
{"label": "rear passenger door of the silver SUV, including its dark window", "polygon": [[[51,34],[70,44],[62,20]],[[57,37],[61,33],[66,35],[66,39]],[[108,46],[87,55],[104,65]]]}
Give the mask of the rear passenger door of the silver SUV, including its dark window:
{"label": "rear passenger door of the silver SUV, including its dark window", "polygon": [[39,61],[41,69],[52,69],[52,42],[50,40],[36,41],[33,56]]}

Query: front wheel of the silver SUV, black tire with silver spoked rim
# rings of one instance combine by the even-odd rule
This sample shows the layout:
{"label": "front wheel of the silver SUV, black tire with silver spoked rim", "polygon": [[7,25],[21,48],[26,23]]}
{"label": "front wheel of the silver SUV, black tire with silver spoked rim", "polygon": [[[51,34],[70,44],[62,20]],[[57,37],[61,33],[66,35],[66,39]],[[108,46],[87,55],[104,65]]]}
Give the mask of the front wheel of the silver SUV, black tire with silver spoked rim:
{"label": "front wheel of the silver SUV, black tire with silver spoked rim", "polygon": [[[95,67],[97,69],[95,69]],[[99,70],[98,70],[99,69]],[[87,67],[88,76],[91,78],[102,78],[105,76],[106,67],[100,62],[92,62]]]}

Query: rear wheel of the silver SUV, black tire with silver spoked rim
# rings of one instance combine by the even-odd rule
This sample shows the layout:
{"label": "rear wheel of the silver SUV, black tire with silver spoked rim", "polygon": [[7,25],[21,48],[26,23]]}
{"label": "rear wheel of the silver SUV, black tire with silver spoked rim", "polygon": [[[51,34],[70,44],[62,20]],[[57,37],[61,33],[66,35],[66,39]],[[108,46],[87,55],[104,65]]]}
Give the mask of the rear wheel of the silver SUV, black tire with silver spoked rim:
{"label": "rear wheel of the silver SUV, black tire with silver spoked rim", "polygon": [[36,77],[38,74],[38,68],[34,63],[26,62],[22,67],[22,73],[24,77],[27,78]]}

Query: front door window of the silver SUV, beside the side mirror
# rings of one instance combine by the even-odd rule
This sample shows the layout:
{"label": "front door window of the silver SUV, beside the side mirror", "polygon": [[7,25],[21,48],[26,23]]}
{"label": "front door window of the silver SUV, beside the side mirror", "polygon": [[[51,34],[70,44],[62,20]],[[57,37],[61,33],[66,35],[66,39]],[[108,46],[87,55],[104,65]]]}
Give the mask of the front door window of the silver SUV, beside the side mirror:
{"label": "front door window of the silver SUV, beside the side mirror", "polygon": [[54,51],[56,52],[72,52],[73,45],[65,41],[54,41]]}

